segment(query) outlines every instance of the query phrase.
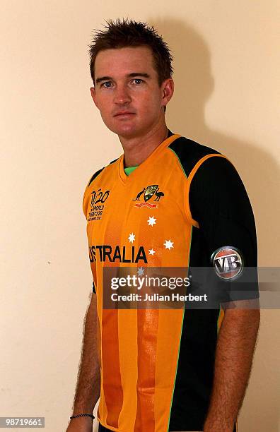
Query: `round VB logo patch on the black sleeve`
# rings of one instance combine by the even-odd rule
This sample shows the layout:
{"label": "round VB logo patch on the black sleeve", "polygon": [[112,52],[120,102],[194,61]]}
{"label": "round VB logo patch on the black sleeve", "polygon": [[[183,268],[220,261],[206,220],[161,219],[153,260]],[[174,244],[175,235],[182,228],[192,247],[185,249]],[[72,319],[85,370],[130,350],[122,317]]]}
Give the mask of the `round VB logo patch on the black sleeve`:
{"label": "round VB logo patch on the black sleeve", "polygon": [[216,274],[223,280],[233,280],[243,270],[243,257],[238,248],[223,246],[218,248],[211,256]]}

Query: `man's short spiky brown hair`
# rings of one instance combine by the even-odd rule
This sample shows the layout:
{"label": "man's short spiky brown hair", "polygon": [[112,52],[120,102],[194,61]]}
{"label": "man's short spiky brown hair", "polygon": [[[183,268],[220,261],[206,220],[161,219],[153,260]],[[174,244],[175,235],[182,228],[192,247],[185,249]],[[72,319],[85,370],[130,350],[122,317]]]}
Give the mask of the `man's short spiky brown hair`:
{"label": "man's short spiky brown hair", "polygon": [[91,78],[95,83],[95,59],[98,52],[105,49],[115,49],[124,47],[150,47],[153,54],[154,67],[158,73],[158,84],[161,85],[164,80],[171,78],[173,67],[171,62],[173,56],[170,54],[168,44],[158,35],[153,26],[141,21],[129,20],[107,20],[104,25],[105,30],[95,30],[95,35],[89,47],[91,57],[90,68]]}

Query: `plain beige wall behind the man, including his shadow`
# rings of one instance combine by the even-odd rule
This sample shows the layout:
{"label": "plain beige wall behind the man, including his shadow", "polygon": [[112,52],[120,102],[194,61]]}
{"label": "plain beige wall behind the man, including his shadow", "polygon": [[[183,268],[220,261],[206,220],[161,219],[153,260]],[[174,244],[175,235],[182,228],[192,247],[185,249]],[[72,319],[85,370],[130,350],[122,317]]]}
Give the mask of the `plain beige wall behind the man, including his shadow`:
{"label": "plain beige wall behind the man, including his shadow", "polygon": [[[45,416],[47,432],[67,424],[91,292],[83,190],[121,152],[91,101],[87,44],[122,16],[170,43],[168,126],[232,160],[259,265],[279,265],[278,1],[1,0],[0,416]],[[280,431],[279,333],[279,311],[262,311],[241,432]]]}

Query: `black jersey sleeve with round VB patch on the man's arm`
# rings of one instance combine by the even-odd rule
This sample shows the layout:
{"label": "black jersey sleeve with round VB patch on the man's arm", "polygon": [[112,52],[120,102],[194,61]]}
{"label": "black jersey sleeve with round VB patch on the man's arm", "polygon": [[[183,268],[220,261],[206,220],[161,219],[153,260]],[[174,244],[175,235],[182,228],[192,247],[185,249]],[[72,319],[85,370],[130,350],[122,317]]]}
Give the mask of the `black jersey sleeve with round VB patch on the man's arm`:
{"label": "black jersey sleeve with round VB patch on the man's arm", "polygon": [[[207,265],[214,266],[219,289],[233,301],[257,298],[255,219],[243,181],[225,157],[209,157],[197,169],[189,188],[189,209],[199,223]],[[227,258],[230,251],[231,257]],[[235,253],[239,258],[233,258]],[[233,277],[226,279],[222,270],[229,258],[233,266],[242,265],[243,271],[238,277],[233,272]]]}

